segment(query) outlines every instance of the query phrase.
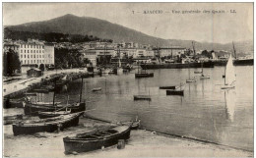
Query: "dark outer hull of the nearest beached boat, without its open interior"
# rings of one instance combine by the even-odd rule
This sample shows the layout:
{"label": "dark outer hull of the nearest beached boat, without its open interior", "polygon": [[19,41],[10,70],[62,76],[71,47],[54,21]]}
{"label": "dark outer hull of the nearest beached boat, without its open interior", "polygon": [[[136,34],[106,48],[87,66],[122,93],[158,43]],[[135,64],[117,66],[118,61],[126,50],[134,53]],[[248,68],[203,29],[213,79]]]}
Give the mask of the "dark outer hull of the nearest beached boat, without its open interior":
{"label": "dark outer hull of the nearest beached boat, without its open interior", "polygon": [[69,137],[64,137],[65,153],[70,154],[73,152],[88,152],[102,147],[112,146],[117,144],[119,139],[129,139],[131,129],[128,128],[126,131],[96,140],[76,140]]}

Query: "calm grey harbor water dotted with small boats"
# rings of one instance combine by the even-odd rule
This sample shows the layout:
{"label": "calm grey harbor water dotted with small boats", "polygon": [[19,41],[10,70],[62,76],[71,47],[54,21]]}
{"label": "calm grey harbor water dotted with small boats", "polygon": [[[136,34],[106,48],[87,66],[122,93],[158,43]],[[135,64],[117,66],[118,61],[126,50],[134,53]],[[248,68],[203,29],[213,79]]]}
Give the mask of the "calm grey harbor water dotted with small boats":
{"label": "calm grey harbor water dotted with small boats", "polygon": [[[135,79],[134,72],[120,76],[106,75],[84,79],[82,100],[88,112],[98,119],[123,122],[141,120],[141,127],[156,132],[214,142],[253,151],[253,66],[235,67],[235,88],[224,85],[224,67],[204,69],[211,79],[200,79],[190,69],[196,82],[185,83],[189,69],[149,70],[154,78]],[[185,83],[184,96],[166,95],[159,86]],[[101,87],[100,91],[92,91]],[[56,101],[79,101],[81,79],[74,80],[56,94]],[[134,95],[150,95],[151,101],[134,101]],[[53,94],[38,94],[42,101],[52,101]],[[8,110],[5,110],[8,113]]]}

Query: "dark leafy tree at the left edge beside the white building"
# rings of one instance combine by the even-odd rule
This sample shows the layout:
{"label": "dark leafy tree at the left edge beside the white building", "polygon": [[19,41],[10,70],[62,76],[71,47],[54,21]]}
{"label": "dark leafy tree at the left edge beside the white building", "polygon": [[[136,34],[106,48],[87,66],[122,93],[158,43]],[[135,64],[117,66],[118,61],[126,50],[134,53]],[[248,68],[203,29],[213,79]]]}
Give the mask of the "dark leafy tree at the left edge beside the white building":
{"label": "dark leafy tree at the left edge beside the white building", "polygon": [[13,75],[16,70],[21,69],[21,62],[19,55],[12,49],[9,49],[7,52],[4,52],[3,55],[3,64],[4,64],[4,76]]}

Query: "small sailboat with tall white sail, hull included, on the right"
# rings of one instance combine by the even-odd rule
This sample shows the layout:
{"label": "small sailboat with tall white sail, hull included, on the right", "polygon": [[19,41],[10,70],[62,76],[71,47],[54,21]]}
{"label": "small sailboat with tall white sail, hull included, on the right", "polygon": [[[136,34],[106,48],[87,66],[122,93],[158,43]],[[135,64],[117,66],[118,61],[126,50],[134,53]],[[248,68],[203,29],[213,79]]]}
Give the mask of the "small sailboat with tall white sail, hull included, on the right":
{"label": "small sailboat with tall white sail, hull included, on the right", "polygon": [[234,88],[235,74],[231,54],[225,66],[224,76],[224,86],[222,89]]}

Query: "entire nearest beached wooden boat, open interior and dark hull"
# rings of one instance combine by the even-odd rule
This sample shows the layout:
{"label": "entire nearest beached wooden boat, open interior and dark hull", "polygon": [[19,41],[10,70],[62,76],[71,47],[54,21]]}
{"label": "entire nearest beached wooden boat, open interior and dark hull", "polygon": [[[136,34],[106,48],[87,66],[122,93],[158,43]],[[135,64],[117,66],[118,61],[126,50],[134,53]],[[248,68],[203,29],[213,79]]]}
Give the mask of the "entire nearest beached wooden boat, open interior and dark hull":
{"label": "entire nearest beached wooden boat, open interior and dark hull", "polygon": [[129,139],[130,126],[117,126],[94,132],[79,133],[73,137],[64,137],[65,153],[81,153],[101,149],[117,144],[119,139]]}

